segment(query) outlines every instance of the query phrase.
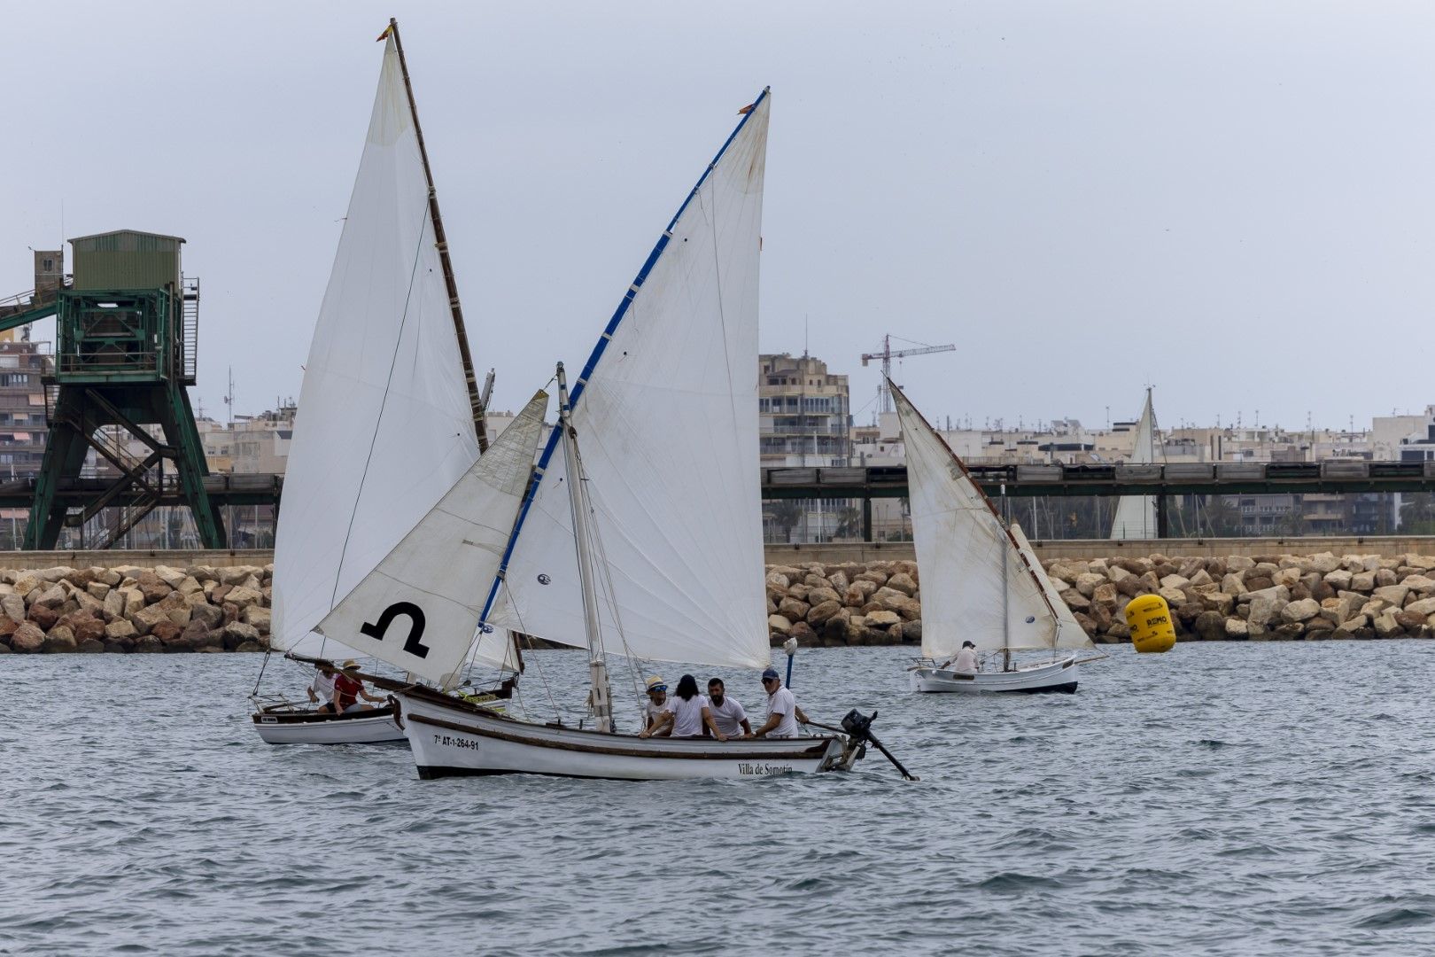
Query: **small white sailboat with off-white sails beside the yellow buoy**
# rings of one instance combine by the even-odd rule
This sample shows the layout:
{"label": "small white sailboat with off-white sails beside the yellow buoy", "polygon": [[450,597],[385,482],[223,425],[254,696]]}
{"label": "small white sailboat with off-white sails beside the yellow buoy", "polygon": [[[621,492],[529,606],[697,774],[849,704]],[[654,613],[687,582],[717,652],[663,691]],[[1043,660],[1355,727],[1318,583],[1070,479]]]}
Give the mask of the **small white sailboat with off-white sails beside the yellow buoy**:
{"label": "small white sailboat with off-white sails beside the yellow buoy", "polygon": [[[1007,527],[967,466],[888,382],[901,419],[913,537],[921,572],[921,653],[914,692],[1075,692],[1076,656],[1091,638],[1055,593],[1020,527]],[[963,641],[992,669],[956,671]],[[1048,650],[1022,663],[1013,653]],[[996,659],[1000,664],[996,664]]]}

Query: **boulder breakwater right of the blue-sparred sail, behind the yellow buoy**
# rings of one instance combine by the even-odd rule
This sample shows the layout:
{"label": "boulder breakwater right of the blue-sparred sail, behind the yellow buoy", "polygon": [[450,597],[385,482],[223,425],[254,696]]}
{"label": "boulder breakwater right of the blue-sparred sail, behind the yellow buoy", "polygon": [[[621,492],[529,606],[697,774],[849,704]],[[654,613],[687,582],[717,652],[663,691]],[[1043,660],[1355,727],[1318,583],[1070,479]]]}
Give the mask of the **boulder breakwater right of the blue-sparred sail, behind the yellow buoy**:
{"label": "boulder breakwater right of the blue-sparred sail, behind the yellow buoy", "polygon": [[[1271,641],[1435,637],[1435,555],[1227,555],[1071,558],[1042,562],[1086,634],[1128,641],[1138,595],[1171,605],[1181,640]],[[771,565],[773,646],[921,641],[921,577],[913,561]]]}

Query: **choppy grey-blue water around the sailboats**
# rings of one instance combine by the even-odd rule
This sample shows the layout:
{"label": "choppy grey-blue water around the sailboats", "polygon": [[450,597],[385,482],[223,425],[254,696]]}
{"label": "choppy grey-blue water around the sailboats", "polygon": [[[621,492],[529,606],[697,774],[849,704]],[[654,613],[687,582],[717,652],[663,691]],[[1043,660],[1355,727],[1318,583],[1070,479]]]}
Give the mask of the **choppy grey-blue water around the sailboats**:
{"label": "choppy grey-blue water around the sailboats", "polygon": [[[581,654],[532,659],[577,697]],[[880,709],[920,783],[420,782],[260,743],[257,656],[10,656],[0,953],[1435,950],[1435,643],[1118,647],[1075,696],[904,663],[804,651],[794,686]]]}

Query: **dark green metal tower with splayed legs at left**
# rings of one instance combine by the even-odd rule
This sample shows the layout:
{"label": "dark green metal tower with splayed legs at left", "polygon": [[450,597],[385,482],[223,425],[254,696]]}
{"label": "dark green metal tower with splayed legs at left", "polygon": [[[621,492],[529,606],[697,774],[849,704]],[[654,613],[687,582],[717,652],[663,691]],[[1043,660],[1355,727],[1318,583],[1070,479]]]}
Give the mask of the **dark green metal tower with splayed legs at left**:
{"label": "dark green metal tower with splayed legs at left", "polygon": [[[44,377],[50,435],[26,548],[55,548],[62,525],[122,506],[99,542],[108,548],[174,492],[189,505],[204,547],[225,547],[185,392],[195,383],[199,283],[179,271],[182,242],[133,230],[70,240],[73,283],[24,314],[0,317],[0,327],[56,317],[55,370]],[[89,449],[113,481],[83,506],[67,505],[56,492],[80,476]]]}

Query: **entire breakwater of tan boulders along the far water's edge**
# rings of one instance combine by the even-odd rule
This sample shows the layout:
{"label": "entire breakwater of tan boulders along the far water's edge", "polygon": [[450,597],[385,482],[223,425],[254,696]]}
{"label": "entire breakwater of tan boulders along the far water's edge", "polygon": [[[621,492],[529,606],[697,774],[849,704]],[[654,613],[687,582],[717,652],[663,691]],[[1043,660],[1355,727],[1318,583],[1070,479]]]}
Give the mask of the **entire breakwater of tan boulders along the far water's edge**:
{"label": "entire breakwater of tan boulders along the far water's edge", "polygon": [[[1131,638],[1124,608],[1158,594],[1180,640],[1435,637],[1435,555],[1227,555],[1045,561],[1101,644]],[[0,570],[0,654],[263,651],[274,565]],[[914,561],[769,565],[773,646],[918,644]]]}

